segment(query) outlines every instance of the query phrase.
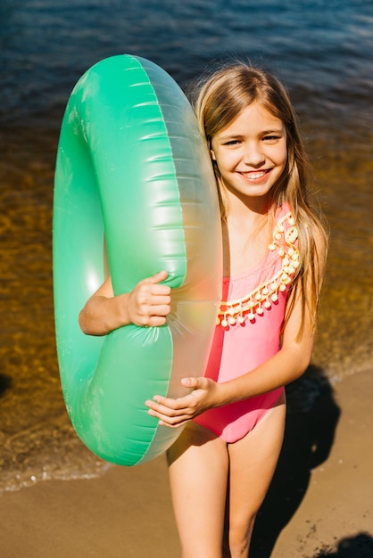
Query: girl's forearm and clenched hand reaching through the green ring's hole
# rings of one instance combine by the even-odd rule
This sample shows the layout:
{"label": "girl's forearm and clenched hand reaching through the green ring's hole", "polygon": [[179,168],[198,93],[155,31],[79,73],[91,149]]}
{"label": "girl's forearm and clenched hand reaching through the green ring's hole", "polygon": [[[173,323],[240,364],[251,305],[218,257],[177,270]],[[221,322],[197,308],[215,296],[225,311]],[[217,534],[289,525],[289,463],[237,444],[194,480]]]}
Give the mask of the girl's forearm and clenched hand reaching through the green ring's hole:
{"label": "girl's forearm and clenched hand reaching through the green ring's hole", "polygon": [[108,277],[81,310],[81,330],[87,335],[106,335],[128,324],[165,324],[170,314],[170,287],[160,283],[166,278],[167,271],[161,271],[137,283],[133,291],[114,296]]}

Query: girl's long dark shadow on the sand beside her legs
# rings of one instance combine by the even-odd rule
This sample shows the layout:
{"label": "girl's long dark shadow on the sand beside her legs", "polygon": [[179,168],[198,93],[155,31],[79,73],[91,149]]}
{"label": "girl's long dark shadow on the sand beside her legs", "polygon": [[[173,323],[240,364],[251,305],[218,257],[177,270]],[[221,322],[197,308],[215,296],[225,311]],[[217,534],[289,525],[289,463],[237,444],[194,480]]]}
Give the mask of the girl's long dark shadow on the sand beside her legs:
{"label": "girl's long dark shadow on the sand beside her legs", "polygon": [[[311,470],[329,455],[340,415],[327,377],[313,365],[300,380],[287,386],[286,398],[284,446],[277,472],[255,522],[251,558],[270,557],[279,534],[303,501]],[[339,556],[326,554],[329,555]],[[357,558],[357,554],[341,556]]]}

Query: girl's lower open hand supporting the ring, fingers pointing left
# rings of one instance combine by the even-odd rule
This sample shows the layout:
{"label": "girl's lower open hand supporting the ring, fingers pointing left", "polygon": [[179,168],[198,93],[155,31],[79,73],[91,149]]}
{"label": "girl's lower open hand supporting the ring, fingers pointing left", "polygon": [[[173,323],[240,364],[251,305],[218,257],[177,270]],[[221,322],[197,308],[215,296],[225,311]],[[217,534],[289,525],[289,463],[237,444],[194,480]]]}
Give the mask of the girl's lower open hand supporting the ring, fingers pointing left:
{"label": "girl's lower open hand supporting the ring, fingers pointing left", "polygon": [[219,384],[210,378],[183,378],[181,383],[193,391],[178,399],[156,395],[152,400],[145,401],[148,413],[160,419],[162,426],[178,428],[207,409],[219,406]]}

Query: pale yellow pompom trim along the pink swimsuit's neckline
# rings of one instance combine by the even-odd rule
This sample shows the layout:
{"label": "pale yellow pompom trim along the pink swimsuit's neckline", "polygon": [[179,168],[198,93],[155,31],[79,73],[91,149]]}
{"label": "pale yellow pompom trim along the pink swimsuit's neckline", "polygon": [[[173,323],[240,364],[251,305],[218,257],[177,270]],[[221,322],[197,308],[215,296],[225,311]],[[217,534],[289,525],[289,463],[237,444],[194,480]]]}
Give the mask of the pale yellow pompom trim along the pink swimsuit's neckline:
{"label": "pale yellow pompom trim along the pink swimsuit's neckline", "polygon": [[[285,231],[284,223],[286,221],[289,228]],[[283,236],[285,245],[279,242]],[[278,250],[278,256],[282,258],[280,271],[266,283],[261,283],[243,299],[220,302],[217,325],[228,327],[228,325],[236,323],[244,324],[246,318],[253,322],[255,315],[264,314],[263,308],[269,309],[272,302],[278,301],[278,292],[286,291],[299,267],[297,238],[298,229],[295,226],[294,217],[291,213],[287,213],[275,226],[272,243],[268,247],[270,251]]]}

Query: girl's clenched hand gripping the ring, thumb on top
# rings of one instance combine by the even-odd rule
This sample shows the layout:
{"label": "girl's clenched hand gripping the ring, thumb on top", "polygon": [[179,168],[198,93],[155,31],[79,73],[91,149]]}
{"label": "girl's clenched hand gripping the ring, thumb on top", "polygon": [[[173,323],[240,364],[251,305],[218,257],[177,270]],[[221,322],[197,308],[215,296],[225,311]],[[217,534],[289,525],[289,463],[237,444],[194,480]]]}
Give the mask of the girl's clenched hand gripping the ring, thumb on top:
{"label": "girl's clenched hand gripping the ring, thumb on top", "polygon": [[167,271],[161,271],[137,283],[128,293],[126,312],[130,324],[152,327],[166,323],[170,314],[170,287],[160,284],[167,278]]}

